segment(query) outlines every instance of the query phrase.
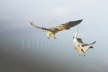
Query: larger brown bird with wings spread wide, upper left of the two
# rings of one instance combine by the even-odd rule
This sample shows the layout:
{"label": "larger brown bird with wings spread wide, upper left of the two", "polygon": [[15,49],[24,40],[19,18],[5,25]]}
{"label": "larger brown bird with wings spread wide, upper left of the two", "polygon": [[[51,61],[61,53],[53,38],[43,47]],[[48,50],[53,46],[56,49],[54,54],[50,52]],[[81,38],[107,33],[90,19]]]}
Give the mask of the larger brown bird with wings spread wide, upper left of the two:
{"label": "larger brown bird with wings spread wide, upper left of the two", "polygon": [[69,21],[69,22],[66,22],[64,24],[61,24],[61,25],[58,25],[58,26],[55,26],[55,27],[50,27],[50,28],[45,28],[45,27],[38,26],[38,25],[34,24],[33,22],[30,22],[30,24],[33,27],[41,29],[44,32],[46,32],[48,39],[51,38],[51,37],[56,39],[55,34],[57,32],[62,31],[62,30],[68,30],[71,27],[74,27],[74,26],[80,24],[81,22],[82,22],[82,19],[81,20],[76,20],[76,21]]}

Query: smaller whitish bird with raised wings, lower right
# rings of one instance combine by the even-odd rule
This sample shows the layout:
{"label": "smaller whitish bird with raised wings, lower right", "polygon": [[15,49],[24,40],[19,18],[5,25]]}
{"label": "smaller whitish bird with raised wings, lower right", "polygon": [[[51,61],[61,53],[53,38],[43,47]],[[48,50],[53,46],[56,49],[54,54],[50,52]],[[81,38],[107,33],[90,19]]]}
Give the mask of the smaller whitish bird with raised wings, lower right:
{"label": "smaller whitish bird with raised wings, lower right", "polygon": [[78,31],[73,36],[73,43],[74,43],[74,49],[79,52],[79,56],[83,55],[85,56],[85,53],[88,49],[93,48],[93,45],[96,43],[96,41],[93,41],[92,43],[84,43],[81,38],[78,37]]}

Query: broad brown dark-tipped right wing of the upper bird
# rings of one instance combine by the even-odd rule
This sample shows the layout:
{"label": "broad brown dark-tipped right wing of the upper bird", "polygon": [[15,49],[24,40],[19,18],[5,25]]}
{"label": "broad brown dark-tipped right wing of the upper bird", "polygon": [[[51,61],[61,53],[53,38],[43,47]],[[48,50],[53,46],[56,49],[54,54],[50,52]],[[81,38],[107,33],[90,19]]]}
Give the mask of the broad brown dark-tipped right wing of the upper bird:
{"label": "broad brown dark-tipped right wing of the upper bird", "polygon": [[74,26],[80,24],[81,22],[82,22],[82,19],[81,20],[76,20],[76,21],[70,21],[70,22],[61,24],[59,26],[52,27],[52,28],[50,28],[50,30],[52,30],[54,32],[67,30],[67,29],[70,29],[71,27],[74,27]]}

